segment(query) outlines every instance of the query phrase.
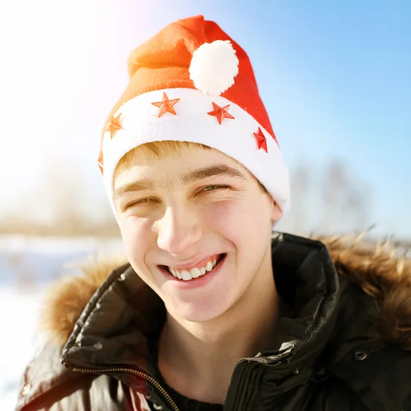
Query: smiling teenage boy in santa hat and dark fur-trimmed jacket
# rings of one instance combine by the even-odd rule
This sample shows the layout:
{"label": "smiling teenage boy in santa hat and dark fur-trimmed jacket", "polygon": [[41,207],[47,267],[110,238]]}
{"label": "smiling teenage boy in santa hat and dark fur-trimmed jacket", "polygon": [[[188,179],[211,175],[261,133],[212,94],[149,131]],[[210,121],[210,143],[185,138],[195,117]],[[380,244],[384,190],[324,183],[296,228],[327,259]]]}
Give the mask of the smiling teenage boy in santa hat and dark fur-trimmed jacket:
{"label": "smiling teenage boy in santa hat and dark fur-trimmed jacket", "polygon": [[411,410],[410,262],[272,233],[288,172],[245,51],[196,16],[128,69],[99,156],[127,264],[51,292],[17,409]]}

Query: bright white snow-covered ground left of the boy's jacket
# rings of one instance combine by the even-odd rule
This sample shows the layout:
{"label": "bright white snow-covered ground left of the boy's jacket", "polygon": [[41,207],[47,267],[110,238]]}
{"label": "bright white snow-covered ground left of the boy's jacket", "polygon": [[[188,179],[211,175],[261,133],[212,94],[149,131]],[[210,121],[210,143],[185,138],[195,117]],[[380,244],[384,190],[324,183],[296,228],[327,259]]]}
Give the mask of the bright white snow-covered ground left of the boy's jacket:
{"label": "bright white snow-covered ground left of the boy's jacket", "polygon": [[118,253],[117,238],[0,237],[0,410],[12,411],[25,367],[38,345],[36,323],[42,298],[64,264],[97,253]]}

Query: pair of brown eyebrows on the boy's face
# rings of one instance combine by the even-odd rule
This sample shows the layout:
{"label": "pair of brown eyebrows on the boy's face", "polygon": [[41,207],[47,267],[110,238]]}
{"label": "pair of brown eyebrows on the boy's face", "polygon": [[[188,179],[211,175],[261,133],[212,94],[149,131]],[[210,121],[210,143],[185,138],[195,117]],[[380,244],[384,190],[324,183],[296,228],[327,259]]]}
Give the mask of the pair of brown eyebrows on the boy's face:
{"label": "pair of brown eyebrows on the boy's face", "polygon": [[[233,169],[227,164],[216,164],[214,166],[206,166],[200,169],[194,169],[187,171],[177,177],[180,182],[184,185],[188,185],[194,182],[197,182],[201,179],[206,179],[208,177],[216,176],[225,176],[225,177],[238,177],[243,180],[247,180],[247,177],[237,169]],[[135,182],[124,184],[123,186],[116,188],[113,192],[113,200],[118,199],[126,192],[136,192],[142,190],[154,190],[154,182],[151,179],[139,179]]]}

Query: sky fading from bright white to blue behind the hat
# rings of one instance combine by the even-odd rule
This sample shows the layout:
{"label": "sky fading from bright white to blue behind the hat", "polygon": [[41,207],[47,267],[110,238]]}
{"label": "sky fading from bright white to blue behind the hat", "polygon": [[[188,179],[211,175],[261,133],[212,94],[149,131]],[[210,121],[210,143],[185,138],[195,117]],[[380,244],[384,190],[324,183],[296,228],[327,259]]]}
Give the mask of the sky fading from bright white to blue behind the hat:
{"label": "sky fading from bright white to blue behind the hat", "polygon": [[55,189],[49,171],[59,168],[95,216],[107,202],[95,163],[101,127],[127,84],[127,56],[171,21],[203,14],[249,54],[290,169],[304,163],[321,174],[341,158],[369,192],[364,225],[411,237],[411,1],[22,0],[2,7],[9,62],[0,77],[8,119],[2,209],[24,205],[28,192],[25,212],[47,217]]}

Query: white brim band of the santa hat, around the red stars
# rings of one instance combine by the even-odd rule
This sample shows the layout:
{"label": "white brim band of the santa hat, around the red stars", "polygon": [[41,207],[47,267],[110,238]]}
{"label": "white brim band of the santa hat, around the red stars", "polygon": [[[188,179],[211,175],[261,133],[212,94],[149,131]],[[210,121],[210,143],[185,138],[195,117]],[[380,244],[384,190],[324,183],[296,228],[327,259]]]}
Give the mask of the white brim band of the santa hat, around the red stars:
{"label": "white brim band of the santa hat, around the red stars", "polygon": [[[158,117],[159,108],[151,104],[153,101],[161,101],[164,92],[170,100],[179,99],[173,106],[176,115],[166,112]],[[228,112],[235,119],[224,119],[219,124],[215,116],[207,114],[213,110],[213,102],[220,107],[229,104]],[[134,147],[162,140],[198,142],[229,155],[265,186],[283,212],[288,210],[288,169],[277,142],[251,114],[225,97],[212,97],[193,88],[155,90],[127,101],[114,113],[114,117],[119,114],[122,128],[116,130],[113,138],[110,138],[110,131],[105,132],[102,147],[103,178],[114,214],[116,209],[112,193],[117,164]],[[258,127],[266,136],[268,153],[264,149],[258,149],[253,135],[258,132]]]}

